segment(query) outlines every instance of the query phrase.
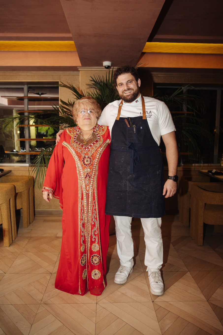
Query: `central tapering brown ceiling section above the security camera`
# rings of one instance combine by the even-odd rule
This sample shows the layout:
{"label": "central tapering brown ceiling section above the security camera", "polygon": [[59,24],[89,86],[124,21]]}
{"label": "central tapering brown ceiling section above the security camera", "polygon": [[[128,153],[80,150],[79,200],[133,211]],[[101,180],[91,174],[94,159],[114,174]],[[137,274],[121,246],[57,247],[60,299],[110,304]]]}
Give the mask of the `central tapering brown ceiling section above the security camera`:
{"label": "central tapering brown ceiling section above the security camera", "polygon": [[164,0],[61,0],[82,66],[135,66]]}

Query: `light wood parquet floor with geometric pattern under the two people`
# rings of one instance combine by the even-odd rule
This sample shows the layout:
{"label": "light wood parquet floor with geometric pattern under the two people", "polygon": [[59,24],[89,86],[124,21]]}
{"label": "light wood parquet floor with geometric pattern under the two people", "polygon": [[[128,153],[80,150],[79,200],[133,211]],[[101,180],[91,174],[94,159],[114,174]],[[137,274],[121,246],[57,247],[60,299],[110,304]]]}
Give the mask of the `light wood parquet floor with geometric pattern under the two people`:
{"label": "light wood parquet floor with geometric pattern under the two people", "polygon": [[222,335],[223,234],[208,228],[199,247],[178,216],[162,219],[162,296],[150,293],[139,219],[132,222],[132,235],[134,271],[126,284],[114,283],[119,259],[111,236],[108,285],[98,297],[54,288],[60,216],[36,216],[28,228],[19,228],[9,248],[0,237],[0,335]]}

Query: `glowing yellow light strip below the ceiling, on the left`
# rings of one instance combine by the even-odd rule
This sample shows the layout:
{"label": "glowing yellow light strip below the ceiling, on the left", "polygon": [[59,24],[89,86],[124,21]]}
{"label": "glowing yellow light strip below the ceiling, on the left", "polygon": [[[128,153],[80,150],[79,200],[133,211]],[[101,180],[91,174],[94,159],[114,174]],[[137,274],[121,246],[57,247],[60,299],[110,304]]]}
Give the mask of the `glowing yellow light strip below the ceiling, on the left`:
{"label": "glowing yellow light strip below the ceiling, on the left", "polygon": [[0,51],[77,51],[74,41],[0,41]]}

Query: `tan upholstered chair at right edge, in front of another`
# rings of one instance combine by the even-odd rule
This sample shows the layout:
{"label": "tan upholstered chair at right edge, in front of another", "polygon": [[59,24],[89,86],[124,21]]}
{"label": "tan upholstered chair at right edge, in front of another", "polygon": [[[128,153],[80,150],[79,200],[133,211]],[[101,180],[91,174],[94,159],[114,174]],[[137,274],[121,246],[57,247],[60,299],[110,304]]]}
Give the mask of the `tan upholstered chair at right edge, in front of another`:
{"label": "tan upholstered chair at right edge, in front of another", "polygon": [[191,188],[190,235],[203,245],[203,225],[223,225],[223,183],[194,185]]}

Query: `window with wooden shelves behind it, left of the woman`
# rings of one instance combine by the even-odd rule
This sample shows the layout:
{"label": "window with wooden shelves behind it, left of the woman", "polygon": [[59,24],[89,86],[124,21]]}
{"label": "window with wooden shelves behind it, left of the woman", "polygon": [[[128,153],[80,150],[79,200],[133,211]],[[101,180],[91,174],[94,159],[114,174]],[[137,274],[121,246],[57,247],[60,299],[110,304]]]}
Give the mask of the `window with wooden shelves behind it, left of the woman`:
{"label": "window with wooden shelves behind it, left of the woman", "polygon": [[[41,111],[52,110],[52,106],[59,105],[59,87],[55,84],[30,84],[0,86],[0,117],[16,115],[32,115],[39,113],[39,125],[34,121],[24,118],[23,124],[16,127],[16,122],[10,123],[6,129],[0,126],[0,163],[27,163],[33,161],[46,145],[52,141],[47,138],[55,138],[56,132],[53,128],[44,125],[46,113]],[[23,112],[21,112],[23,111]],[[38,111],[38,112],[37,112]],[[41,126],[43,125],[43,126]],[[23,139],[23,140],[21,140]],[[33,140],[32,140],[33,139]]]}

